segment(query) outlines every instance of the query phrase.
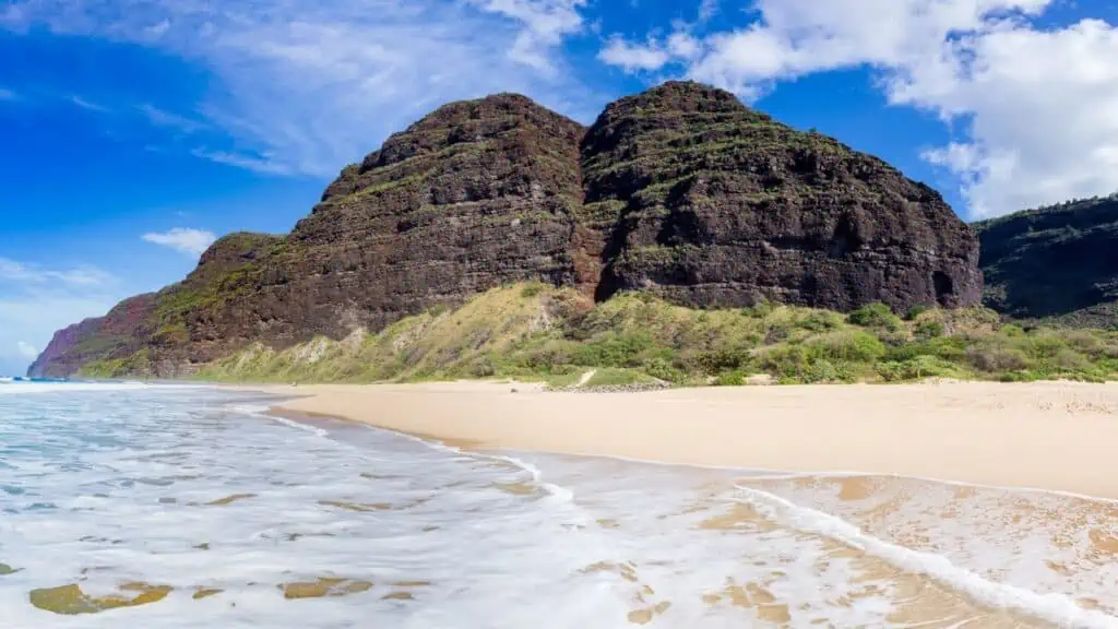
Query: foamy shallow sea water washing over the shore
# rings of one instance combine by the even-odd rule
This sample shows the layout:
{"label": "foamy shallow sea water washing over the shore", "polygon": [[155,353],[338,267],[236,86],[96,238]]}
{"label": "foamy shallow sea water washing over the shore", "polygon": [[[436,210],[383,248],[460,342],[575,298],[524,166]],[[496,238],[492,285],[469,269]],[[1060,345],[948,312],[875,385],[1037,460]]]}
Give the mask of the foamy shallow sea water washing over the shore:
{"label": "foamy shallow sea water washing over the shore", "polygon": [[1118,506],[0,383],[2,628],[1118,627]]}

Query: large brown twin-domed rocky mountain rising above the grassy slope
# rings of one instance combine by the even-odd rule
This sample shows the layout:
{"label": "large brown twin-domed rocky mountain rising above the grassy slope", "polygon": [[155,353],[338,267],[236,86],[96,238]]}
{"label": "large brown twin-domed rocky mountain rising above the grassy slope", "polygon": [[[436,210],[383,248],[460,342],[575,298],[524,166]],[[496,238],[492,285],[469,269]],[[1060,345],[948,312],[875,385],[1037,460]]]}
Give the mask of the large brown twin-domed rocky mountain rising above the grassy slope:
{"label": "large brown twin-domed rocky mountain rising above the grassy slope", "polygon": [[499,94],[391,135],[291,234],[221,238],[181,283],[58,332],[31,374],[189,375],[532,280],[599,301],[954,308],[979,300],[977,262],[932,189],[727,92],[667,83],[590,129]]}

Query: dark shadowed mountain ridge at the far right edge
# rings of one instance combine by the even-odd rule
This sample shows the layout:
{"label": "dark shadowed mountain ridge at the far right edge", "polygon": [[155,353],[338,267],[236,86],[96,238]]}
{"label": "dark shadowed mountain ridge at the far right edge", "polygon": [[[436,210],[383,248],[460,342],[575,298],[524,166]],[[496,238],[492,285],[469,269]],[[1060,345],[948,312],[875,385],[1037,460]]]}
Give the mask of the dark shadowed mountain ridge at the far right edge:
{"label": "dark shadowed mountain ridge at the far right edge", "polygon": [[1118,195],[974,224],[984,302],[1022,319],[1118,327]]}

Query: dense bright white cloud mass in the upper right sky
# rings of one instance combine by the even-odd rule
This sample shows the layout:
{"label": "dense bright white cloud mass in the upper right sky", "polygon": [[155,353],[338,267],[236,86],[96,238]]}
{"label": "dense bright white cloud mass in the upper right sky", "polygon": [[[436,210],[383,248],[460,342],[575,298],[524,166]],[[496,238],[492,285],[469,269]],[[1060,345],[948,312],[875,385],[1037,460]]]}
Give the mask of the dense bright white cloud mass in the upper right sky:
{"label": "dense bright white cloud mass in the upper right sky", "polygon": [[747,100],[781,79],[877,68],[892,104],[958,122],[964,137],[923,157],[956,175],[970,214],[985,217],[1118,189],[1118,29],[1036,26],[1051,4],[757,0],[757,17],[735,30],[609,46],[637,58],[634,47],[666,50],[664,66]]}

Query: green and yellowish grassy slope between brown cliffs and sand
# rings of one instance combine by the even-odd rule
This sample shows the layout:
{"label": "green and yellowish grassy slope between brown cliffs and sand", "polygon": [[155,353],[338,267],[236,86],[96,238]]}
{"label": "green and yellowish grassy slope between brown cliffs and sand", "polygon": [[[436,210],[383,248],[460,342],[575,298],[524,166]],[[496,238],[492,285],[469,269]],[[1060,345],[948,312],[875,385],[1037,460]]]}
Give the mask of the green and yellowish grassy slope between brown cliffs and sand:
{"label": "green and yellowish grassy slope between brown cliffs and sand", "polygon": [[904,382],[926,377],[1029,381],[1118,376],[1118,334],[1024,330],[985,309],[900,319],[883,306],[850,316],[785,306],[691,310],[629,293],[595,306],[569,290],[517,284],[462,308],[404,319],[276,353],[250,347],[199,377],[342,382],[515,377],[569,385],[652,378],[681,385]]}

